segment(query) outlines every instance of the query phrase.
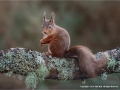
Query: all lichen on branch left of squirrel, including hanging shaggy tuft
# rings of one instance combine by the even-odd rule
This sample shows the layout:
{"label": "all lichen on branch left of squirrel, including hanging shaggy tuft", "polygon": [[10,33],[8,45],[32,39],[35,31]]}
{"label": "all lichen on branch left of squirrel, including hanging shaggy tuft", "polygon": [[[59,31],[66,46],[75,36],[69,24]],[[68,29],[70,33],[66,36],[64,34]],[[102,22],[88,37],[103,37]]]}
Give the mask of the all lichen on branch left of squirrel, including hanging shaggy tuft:
{"label": "all lichen on branch left of squirrel, including hanging shaggy tuft", "polygon": [[26,75],[27,88],[35,89],[38,81],[43,81],[49,70],[45,65],[41,53],[25,48],[11,48],[0,51],[0,72],[7,71],[7,76],[17,73],[21,80]]}

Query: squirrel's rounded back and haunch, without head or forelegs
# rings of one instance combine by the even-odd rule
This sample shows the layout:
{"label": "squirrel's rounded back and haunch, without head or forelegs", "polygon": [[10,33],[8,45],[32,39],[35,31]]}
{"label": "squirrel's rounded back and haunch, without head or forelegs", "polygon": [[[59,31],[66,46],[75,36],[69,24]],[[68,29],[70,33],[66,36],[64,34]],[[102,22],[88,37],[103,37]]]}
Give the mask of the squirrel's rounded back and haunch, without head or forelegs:
{"label": "squirrel's rounded back and haunch, without head or forelegs", "polygon": [[64,57],[65,52],[69,49],[70,46],[70,36],[68,32],[55,25],[55,38],[49,44],[49,50],[52,53],[52,56],[62,58]]}

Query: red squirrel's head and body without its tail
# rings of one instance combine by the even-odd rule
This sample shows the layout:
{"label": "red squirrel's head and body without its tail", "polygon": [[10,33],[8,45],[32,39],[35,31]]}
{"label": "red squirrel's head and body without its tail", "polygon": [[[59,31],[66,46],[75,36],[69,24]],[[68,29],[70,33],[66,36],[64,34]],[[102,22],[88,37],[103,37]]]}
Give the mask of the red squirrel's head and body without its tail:
{"label": "red squirrel's head and body without its tail", "polygon": [[55,25],[53,13],[50,20],[46,20],[44,15],[42,32],[44,37],[40,40],[40,45],[48,44],[47,54],[59,58],[64,57],[64,53],[70,46],[70,36],[65,29]]}

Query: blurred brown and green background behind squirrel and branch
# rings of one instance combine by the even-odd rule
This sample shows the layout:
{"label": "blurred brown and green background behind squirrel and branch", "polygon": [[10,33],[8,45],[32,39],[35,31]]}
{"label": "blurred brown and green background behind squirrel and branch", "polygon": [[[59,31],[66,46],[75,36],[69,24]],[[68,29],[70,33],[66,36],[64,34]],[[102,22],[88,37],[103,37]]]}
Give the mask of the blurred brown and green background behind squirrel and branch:
{"label": "blurred brown and green background behind squirrel and branch", "polygon": [[[55,13],[56,24],[71,36],[71,46],[85,45],[94,53],[120,46],[119,1],[0,1],[0,50],[23,47],[47,51],[47,46],[39,47],[44,11],[48,19],[52,11]],[[119,76],[108,75],[105,81],[100,77],[88,79],[86,84],[80,80],[45,80],[37,89],[80,89],[81,85],[115,85],[120,88]],[[1,74],[0,89],[26,89],[26,86],[24,79],[20,81],[17,76]]]}

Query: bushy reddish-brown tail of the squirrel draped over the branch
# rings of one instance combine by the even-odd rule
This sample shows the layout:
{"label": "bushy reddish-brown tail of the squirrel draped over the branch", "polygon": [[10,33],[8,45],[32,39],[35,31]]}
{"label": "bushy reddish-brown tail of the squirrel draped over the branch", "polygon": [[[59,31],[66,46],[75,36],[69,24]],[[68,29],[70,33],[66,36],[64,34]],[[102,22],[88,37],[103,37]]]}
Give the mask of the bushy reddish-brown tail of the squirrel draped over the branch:
{"label": "bushy reddish-brown tail of the squirrel draped over the branch", "polygon": [[69,49],[66,55],[70,57],[71,55],[77,56],[81,72],[89,77],[97,76],[97,72],[108,63],[105,55],[97,60],[89,48],[80,45]]}

